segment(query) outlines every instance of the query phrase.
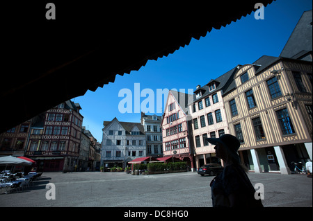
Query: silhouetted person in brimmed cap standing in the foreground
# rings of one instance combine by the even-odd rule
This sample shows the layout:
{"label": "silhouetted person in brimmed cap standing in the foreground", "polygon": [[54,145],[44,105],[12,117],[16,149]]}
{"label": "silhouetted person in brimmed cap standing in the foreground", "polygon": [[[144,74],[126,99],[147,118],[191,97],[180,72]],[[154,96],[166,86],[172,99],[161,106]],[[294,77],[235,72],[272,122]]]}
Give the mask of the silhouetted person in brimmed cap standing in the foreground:
{"label": "silhouetted person in brimmed cap standing in the foreground", "polygon": [[215,145],[216,157],[224,161],[224,170],[211,182],[214,207],[263,207],[260,197],[248,178],[248,169],[240,163],[240,142],[236,136],[224,134],[219,138],[207,138]]}

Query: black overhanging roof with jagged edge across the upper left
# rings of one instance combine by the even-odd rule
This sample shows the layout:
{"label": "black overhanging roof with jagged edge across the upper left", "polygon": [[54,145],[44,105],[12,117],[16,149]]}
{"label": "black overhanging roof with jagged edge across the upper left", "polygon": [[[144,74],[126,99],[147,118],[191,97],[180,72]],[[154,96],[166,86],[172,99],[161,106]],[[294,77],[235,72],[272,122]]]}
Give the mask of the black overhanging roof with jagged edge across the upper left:
{"label": "black overhanging roof with jagged edge across the upper left", "polygon": [[[145,11],[138,7],[133,12],[132,8],[112,10],[97,4],[79,5],[77,1],[65,8],[63,1],[54,1],[55,21],[42,16],[49,1],[40,5],[26,2],[18,8],[16,3],[3,6],[10,23],[3,25],[6,80],[0,81],[0,132],[114,82],[117,74],[138,71],[148,60],[167,57],[190,44],[192,38],[205,37],[213,28],[220,29],[250,15],[258,1],[209,1],[204,2],[206,5],[183,2],[176,9],[160,3],[150,7],[159,10],[153,12],[149,7]],[[272,1],[262,3],[267,6]],[[88,11],[90,8],[103,11],[100,16],[104,19],[93,24],[93,18],[99,19],[99,15]],[[124,12],[128,14],[122,17]],[[143,15],[133,19],[131,16],[137,12]],[[115,20],[121,17],[125,21],[116,25]],[[105,35],[102,29],[107,31]]]}

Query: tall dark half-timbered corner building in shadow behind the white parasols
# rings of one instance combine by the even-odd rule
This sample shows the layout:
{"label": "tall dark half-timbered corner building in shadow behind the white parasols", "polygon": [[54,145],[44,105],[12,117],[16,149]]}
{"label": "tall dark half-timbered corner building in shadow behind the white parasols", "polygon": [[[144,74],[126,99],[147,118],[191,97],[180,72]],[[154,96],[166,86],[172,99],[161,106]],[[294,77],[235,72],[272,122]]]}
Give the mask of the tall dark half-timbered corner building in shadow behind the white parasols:
{"label": "tall dark half-timbered corner building in shadow behind the white parasols", "polygon": [[38,116],[31,126],[26,157],[38,170],[71,171],[79,161],[83,116],[78,103],[67,100]]}

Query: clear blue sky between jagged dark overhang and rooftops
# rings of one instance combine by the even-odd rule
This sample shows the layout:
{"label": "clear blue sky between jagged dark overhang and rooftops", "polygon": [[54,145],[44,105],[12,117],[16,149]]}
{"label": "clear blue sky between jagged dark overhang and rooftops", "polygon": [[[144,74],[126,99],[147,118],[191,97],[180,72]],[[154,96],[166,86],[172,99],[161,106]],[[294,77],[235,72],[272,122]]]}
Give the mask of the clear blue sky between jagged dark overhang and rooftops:
{"label": "clear blue sky between jagged dark overhang and rooftops", "polygon": [[[273,1],[264,8],[264,19],[255,19],[255,12],[252,12],[226,27],[211,30],[199,40],[192,39],[188,46],[179,48],[168,57],[148,61],[139,71],[116,76],[114,83],[73,98],[82,107],[83,126],[101,142],[103,121],[111,121],[115,117],[119,121],[141,121],[141,114],[134,113],[135,99],[140,103],[154,99],[152,114],[161,115],[157,113],[161,110],[157,109],[157,89],[175,88],[187,92],[197,85],[206,85],[237,64],[251,64],[262,55],[279,56],[298,19],[304,11],[311,9],[311,0]],[[135,98],[135,83],[140,84],[140,92],[151,89],[154,96]],[[122,89],[131,92],[131,113],[121,113],[118,108],[124,98],[130,98],[130,94],[118,96]]]}

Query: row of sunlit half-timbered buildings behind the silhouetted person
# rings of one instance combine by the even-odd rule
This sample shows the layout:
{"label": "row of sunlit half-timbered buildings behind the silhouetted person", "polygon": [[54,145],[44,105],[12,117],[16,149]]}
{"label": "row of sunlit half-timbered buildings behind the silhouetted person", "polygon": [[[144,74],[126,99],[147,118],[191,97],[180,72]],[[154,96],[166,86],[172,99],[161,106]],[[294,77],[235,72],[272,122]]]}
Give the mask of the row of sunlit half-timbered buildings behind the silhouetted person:
{"label": "row of sunlit half-timbered buildings behind the silhouetted person", "polygon": [[[299,47],[303,41],[311,43]],[[164,157],[189,152],[195,169],[220,162],[206,138],[233,134],[241,143],[241,163],[257,173],[290,174],[292,162],[312,159],[312,10],[303,13],[282,55],[264,55],[198,85],[188,105],[170,91],[162,121]],[[189,149],[182,148],[182,136]]]}

